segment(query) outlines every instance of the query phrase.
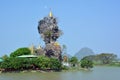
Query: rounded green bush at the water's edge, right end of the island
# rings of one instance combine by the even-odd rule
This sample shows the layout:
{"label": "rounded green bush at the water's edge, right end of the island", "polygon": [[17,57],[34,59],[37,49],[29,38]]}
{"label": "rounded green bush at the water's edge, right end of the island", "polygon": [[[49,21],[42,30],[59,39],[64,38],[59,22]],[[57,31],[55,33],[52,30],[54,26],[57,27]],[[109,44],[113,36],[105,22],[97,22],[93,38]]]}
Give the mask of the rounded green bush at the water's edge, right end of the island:
{"label": "rounded green bush at the water's edge, right end of the island", "polygon": [[86,59],[86,58],[83,58],[81,61],[81,67],[82,68],[93,68],[93,62]]}

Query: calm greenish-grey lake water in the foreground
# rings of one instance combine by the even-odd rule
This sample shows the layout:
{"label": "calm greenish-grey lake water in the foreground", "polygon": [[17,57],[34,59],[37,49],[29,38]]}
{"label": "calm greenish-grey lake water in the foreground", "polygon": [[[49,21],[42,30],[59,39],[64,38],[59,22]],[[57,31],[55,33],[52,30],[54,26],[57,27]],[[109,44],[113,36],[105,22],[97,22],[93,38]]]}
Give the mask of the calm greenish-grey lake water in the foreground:
{"label": "calm greenish-grey lake water in the foreground", "polygon": [[95,67],[93,71],[2,73],[0,80],[120,80],[120,67]]}

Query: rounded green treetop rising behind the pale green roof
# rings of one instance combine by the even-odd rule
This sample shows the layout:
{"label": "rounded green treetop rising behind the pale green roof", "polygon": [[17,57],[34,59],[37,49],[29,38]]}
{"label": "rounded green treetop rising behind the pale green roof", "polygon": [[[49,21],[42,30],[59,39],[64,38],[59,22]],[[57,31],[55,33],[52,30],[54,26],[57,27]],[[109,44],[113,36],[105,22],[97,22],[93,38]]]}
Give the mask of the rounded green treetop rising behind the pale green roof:
{"label": "rounded green treetop rising behind the pale green roof", "polygon": [[10,57],[17,57],[20,55],[29,55],[31,54],[31,51],[28,48],[19,48],[13,53],[10,54]]}

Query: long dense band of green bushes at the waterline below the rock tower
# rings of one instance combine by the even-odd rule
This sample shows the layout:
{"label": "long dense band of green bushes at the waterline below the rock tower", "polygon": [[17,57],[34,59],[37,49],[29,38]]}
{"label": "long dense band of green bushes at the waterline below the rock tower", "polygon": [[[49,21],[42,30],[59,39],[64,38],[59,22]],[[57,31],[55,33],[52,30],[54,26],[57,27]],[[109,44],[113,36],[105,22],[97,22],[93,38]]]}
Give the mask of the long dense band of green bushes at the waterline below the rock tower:
{"label": "long dense band of green bushes at the waterline below the rock tower", "polygon": [[0,64],[0,68],[8,71],[36,68],[42,70],[61,70],[61,63],[58,59],[45,56],[40,56],[39,58],[8,57]]}

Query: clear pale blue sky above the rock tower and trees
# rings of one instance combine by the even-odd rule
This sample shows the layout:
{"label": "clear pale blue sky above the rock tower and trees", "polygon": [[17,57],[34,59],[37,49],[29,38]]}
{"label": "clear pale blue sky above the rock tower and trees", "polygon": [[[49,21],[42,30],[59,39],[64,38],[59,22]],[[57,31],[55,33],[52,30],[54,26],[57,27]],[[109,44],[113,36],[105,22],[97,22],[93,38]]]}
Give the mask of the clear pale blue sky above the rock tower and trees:
{"label": "clear pale blue sky above the rock tower and trees", "polygon": [[120,0],[0,0],[0,56],[44,46],[37,27],[50,10],[63,31],[58,42],[68,54],[88,47],[120,57]]}

